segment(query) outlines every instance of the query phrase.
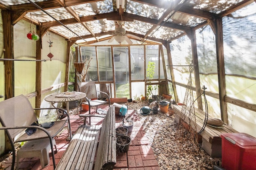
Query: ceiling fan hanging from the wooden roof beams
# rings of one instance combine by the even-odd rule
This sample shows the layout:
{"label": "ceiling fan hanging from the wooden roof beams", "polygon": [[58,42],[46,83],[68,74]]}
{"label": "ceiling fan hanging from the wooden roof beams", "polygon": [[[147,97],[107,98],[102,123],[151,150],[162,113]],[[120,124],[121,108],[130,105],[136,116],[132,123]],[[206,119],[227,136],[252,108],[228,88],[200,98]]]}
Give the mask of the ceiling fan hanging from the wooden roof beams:
{"label": "ceiling fan hanging from the wooden roof beams", "polygon": [[[124,21],[116,21],[116,23],[117,27],[115,28],[115,32],[113,33],[114,36],[108,42],[111,43],[113,40],[116,40],[120,44],[123,41],[126,41],[128,44],[132,44],[132,41],[126,36],[128,34],[126,34],[125,29],[122,27],[122,25],[124,25]],[[130,36],[140,39],[139,37],[136,37],[134,35]]]}

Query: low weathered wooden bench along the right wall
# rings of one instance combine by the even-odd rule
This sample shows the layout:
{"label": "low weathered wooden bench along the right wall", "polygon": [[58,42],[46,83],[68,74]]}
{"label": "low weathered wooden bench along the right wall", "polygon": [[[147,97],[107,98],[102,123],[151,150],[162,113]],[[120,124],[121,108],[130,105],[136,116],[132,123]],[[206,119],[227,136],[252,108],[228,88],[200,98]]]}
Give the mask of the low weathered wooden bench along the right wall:
{"label": "low weathered wooden bench along the right wall", "polygon": [[[173,106],[174,112],[175,112],[175,118],[174,120],[176,123],[179,123],[180,116],[181,116],[181,110],[182,106]],[[205,113],[195,108],[195,114],[196,114],[196,130],[199,132],[203,125],[204,125],[204,117]],[[188,123],[188,117],[184,120],[186,123]],[[224,125],[223,128],[215,128],[211,127],[209,125],[206,125],[204,131],[200,134],[202,136],[202,148],[212,157],[221,157],[221,137],[220,134],[222,133],[234,133],[237,132],[235,129],[233,129],[229,125]]]}

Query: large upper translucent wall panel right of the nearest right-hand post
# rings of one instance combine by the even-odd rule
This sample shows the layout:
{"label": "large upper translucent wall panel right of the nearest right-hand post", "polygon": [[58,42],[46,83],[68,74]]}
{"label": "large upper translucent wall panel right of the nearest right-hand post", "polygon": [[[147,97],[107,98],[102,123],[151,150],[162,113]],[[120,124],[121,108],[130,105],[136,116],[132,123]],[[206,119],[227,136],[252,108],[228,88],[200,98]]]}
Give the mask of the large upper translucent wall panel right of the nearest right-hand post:
{"label": "large upper translucent wall panel right of the nearest right-hand post", "polygon": [[226,94],[256,103],[256,3],[224,17]]}

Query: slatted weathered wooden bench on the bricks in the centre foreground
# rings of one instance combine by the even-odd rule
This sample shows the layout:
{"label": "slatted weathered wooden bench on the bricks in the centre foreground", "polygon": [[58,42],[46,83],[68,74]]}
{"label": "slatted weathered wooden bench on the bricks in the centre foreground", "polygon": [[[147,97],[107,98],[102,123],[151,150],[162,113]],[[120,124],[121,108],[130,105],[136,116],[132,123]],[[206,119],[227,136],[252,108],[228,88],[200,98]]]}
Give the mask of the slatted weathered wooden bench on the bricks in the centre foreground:
{"label": "slatted weathered wooden bench on the bricks in the centre foreground", "polygon": [[[89,115],[89,117],[92,117],[92,115]],[[102,125],[81,125],[78,127],[56,169],[92,170],[96,151],[97,156],[94,169],[113,169],[116,164],[114,106],[109,107]]]}

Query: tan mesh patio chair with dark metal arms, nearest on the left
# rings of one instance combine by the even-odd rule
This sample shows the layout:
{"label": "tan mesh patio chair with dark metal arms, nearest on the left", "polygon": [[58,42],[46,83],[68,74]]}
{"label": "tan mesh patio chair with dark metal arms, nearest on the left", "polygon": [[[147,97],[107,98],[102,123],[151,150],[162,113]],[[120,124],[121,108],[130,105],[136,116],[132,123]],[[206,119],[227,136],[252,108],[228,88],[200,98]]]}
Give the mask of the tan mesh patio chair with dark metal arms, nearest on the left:
{"label": "tan mesh patio chair with dark metal arms, nearest on the left", "polygon": [[[51,121],[54,121],[54,124],[48,129],[45,129],[44,127],[41,127],[41,126],[32,125],[32,123],[37,121],[37,117],[34,110],[42,110],[42,109],[51,111],[51,113],[52,112],[57,113],[56,119],[51,120]],[[57,121],[60,110],[62,110],[63,113],[67,115],[67,119]],[[3,127],[0,127],[0,129],[4,129],[7,132],[6,135],[12,147],[12,169],[14,169],[14,164],[15,164],[14,143],[22,142],[22,141],[29,141],[30,143],[33,140],[43,140],[45,138],[49,139],[48,145],[51,146],[52,160],[55,168],[53,138],[56,135],[58,135],[58,133],[60,133],[60,131],[65,127],[66,123],[69,123],[69,116],[66,113],[66,110],[61,108],[33,109],[28,98],[26,98],[26,96],[24,95],[19,95],[19,96],[0,102],[0,123],[3,126]],[[31,135],[27,135],[25,133],[25,130],[27,128],[36,128],[37,130]],[[40,145],[40,142],[38,143],[38,145]],[[25,148],[28,148],[28,146],[26,146]],[[34,150],[33,149],[30,150],[30,149],[27,151],[24,150],[23,152],[38,152],[36,148]]]}

